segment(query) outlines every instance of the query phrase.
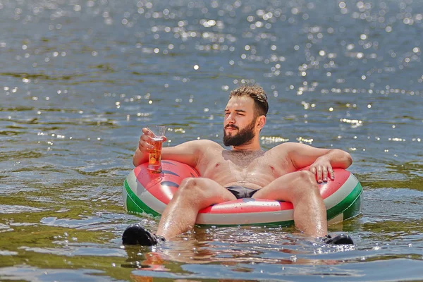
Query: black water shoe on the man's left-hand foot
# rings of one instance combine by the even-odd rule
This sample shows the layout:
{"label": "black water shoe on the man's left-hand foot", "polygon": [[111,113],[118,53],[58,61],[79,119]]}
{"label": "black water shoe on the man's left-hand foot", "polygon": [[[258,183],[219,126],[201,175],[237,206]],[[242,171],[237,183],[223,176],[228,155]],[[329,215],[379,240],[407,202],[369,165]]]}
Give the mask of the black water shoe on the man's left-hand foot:
{"label": "black water shoe on the man's left-hand foot", "polygon": [[140,224],[131,224],[122,235],[123,245],[154,246],[164,241],[163,236],[149,233]]}

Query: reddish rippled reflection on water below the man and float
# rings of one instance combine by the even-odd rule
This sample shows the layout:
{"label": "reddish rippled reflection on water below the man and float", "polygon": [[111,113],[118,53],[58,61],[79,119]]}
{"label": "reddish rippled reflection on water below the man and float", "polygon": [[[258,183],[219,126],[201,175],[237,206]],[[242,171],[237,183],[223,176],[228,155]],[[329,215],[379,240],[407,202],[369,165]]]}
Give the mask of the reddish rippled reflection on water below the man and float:
{"label": "reddish rippled reflection on water below the man and float", "polygon": [[206,228],[179,240],[149,247],[125,246],[128,264],[142,270],[170,271],[168,264],[214,264],[252,271],[257,264],[339,264],[324,254],[355,250],[354,246],[328,246],[281,228]]}

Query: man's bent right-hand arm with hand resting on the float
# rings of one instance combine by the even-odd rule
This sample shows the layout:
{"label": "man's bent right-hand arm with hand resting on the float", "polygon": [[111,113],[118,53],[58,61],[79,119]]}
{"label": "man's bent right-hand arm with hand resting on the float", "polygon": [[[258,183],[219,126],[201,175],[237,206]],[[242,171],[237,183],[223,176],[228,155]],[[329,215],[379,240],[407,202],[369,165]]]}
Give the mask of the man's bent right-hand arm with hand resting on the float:
{"label": "man's bent right-hand arm with hand resting on the float", "polygon": [[348,152],[341,149],[321,149],[300,143],[290,143],[288,155],[295,168],[309,166],[309,171],[317,176],[319,183],[327,177],[333,180],[333,168],[348,168],[353,159]]}

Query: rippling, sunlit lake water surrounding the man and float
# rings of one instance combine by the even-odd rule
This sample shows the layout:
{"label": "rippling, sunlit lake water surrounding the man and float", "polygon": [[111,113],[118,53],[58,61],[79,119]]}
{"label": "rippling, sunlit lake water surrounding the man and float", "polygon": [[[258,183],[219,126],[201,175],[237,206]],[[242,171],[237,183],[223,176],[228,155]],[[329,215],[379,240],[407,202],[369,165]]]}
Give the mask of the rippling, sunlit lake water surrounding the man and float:
{"label": "rippling, sunlit lake water surrounding the man and float", "polygon": [[[0,280],[422,281],[423,2],[0,0]],[[262,147],[350,152],[362,214],[196,228],[122,247],[141,128],[221,143],[229,90],[269,96]]]}

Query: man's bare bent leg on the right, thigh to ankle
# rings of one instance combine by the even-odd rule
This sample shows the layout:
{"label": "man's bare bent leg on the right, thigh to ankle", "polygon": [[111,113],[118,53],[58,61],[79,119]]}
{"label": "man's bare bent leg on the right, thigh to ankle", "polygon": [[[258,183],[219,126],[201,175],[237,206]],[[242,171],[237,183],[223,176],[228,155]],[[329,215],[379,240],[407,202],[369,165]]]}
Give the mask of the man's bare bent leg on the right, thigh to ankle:
{"label": "man's bare bent leg on the right, thigh to ankle", "polygon": [[295,226],[300,231],[314,237],[327,234],[326,207],[321,199],[316,176],[309,171],[281,176],[255,192],[252,197],[292,202]]}

